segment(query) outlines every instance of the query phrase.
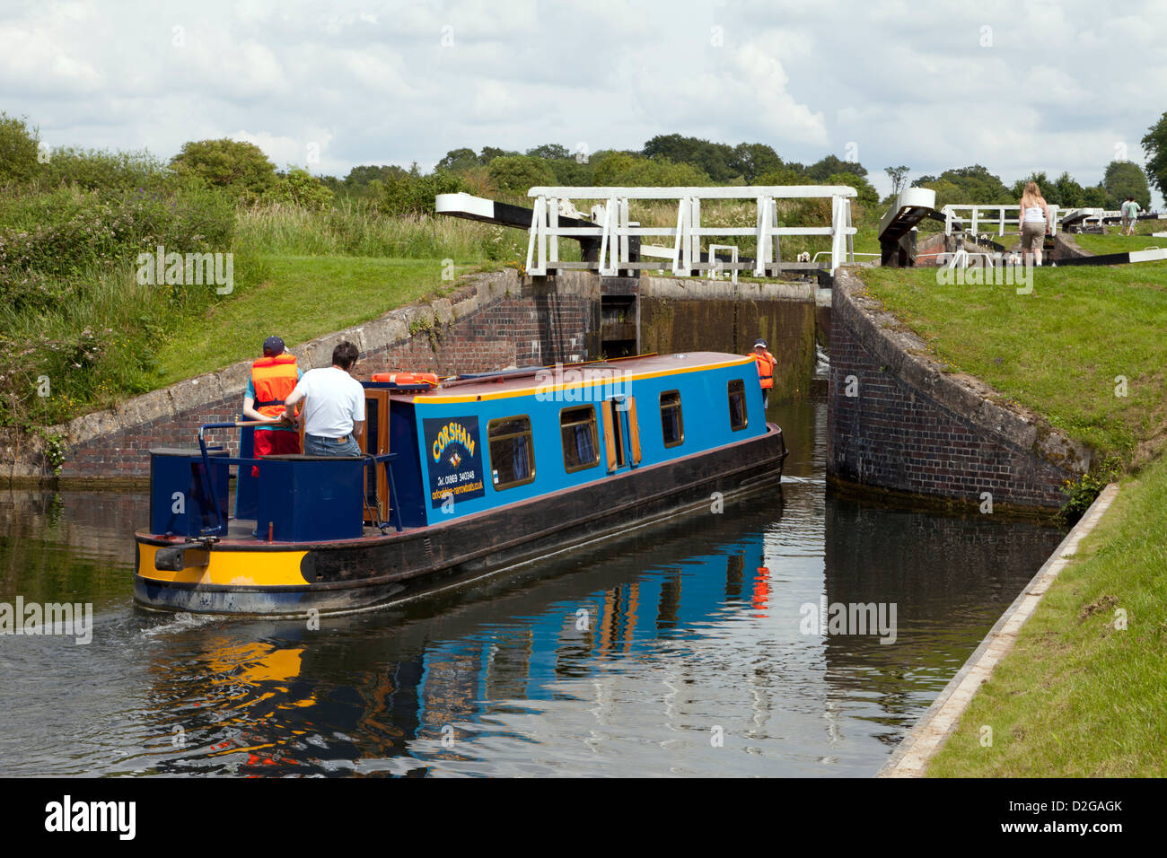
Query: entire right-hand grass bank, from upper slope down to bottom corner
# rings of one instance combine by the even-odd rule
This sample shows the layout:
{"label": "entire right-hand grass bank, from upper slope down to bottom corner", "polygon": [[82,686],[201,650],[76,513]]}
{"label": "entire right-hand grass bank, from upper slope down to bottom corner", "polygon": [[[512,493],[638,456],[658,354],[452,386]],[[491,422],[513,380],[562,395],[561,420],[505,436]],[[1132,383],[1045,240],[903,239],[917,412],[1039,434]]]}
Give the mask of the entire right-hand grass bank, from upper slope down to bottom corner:
{"label": "entire right-hand grass bank, from upper slope down to bottom corner", "polygon": [[945,285],[935,268],[862,278],[951,370],[1096,451],[1081,508],[1123,482],[928,774],[1167,774],[1167,264],[1042,267],[1030,294]]}

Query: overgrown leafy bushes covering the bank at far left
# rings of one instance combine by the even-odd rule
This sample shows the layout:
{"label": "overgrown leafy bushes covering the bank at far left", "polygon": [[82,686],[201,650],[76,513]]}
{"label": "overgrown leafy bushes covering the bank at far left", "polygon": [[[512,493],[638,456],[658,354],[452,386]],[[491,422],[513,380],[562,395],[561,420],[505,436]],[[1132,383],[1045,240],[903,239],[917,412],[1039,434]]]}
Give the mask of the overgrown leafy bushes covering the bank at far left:
{"label": "overgrown leafy bushes covering the bank at far left", "polygon": [[[217,295],[210,286],[138,282],[138,254],[158,245],[229,252],[233,232],[233,201],[200,184],[123,194],[70,186],[4,197],[0,425],[53,424],[151,390],[159,339]],[[236,290],[263,273],[242,254]]]}

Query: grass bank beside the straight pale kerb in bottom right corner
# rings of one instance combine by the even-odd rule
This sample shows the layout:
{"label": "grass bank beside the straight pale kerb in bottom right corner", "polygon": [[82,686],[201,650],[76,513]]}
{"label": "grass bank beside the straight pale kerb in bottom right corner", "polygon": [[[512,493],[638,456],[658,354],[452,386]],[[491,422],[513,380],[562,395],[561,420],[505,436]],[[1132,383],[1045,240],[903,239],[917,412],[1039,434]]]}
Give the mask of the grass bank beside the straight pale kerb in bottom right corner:
{"label": "grass bank beside the straight pale kerb in bottom right corner", "polygon": [[[1165,509],[1167,460],[1159,460],[1123,484],[930,776],[1167,775]],[[985,726],[991,745],[981,745]]]}

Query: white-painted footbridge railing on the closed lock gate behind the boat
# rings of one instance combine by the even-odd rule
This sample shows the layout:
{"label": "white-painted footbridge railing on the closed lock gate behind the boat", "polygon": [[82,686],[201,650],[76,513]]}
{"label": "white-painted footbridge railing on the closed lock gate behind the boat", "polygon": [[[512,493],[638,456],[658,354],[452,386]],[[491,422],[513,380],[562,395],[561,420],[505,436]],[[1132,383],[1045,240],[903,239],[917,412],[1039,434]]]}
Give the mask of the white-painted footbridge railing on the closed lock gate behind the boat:
{"label": "white-painted footbridge railing on the closed lock gate behind the boat", "polygon": [[[830,236],[831,272],[839,265],[854,261],[855,228],[851,225],[851,197],[854,188],[846,186],[743,186],[736,188],[572,188],[537,187],[527,191],[534,198],[531,233],[526,250],[526,271],[546,274],[547,268],[594,267],[606,277],[621,270],[656,268],[659,263],[634,263],[630,259],[631,237],[669,236],[673,238],[672,273],[691,277],[697,270],[711,265],[729,270],[729,265],[710,260],[700,261],[703,237],[748,237],[757,242],[754,274],[766,277],[781,267],[782,236]],[[778,200],[831,200],[831,221],[825,226],[778,226]],[[593,207],[595,226],[559,226],[561,200],[602,200]],[[628,218],[629,200],[676,200],[677,225],[641,226]],[[753,200],[756,204],[754,226],[707,226],[701,223],[701,200]],[[600,239],[599,263],[561,263],[559,238],[592,236]],[[734,265],[734,264],[731,264]],[[748,264],[739,263],[738,267]]]}

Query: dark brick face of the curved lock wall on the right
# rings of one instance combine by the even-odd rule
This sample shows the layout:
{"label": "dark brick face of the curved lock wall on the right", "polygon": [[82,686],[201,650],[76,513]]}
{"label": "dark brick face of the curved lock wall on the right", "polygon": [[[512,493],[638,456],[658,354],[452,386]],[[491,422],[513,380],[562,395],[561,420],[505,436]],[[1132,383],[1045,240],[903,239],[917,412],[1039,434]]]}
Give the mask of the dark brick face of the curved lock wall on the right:
{"label": "dark brick face of the curved lock wall on the right", "polygon": [[[1057,508],[1065,502],[1060,488],[1078,474],[1037,455],[1026,444],[1036,434],[1032,427],[992,431],[984,425],[985,400],[964,396],[965,405],[953,407],[951,396],[906,379],[888,355],[876,354],[872,329],[851,323],[854,305],[846,308],[852,313],[840,312],[852,298],[837,292],[832,313],[829,476],[970,504],[980,504],[983,491],[994,504]],[[846,395],[848,382],[855,396]],[[934,390],[952,384],[941,378]]]}

